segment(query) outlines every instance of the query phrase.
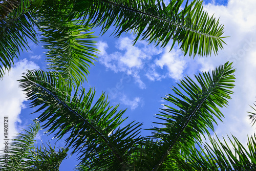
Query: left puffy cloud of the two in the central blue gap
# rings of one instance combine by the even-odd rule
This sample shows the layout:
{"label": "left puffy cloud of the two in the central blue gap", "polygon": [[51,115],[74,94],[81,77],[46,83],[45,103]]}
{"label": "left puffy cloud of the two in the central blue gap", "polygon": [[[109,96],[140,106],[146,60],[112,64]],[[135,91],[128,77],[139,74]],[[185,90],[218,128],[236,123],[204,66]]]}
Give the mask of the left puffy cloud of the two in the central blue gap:
{"label": "left puffy cloud of the two in the central blue gap", "polygon": [[145,41],[139,41],[136,46],[133,46],[133,40],[129,37],[121,37],[116,42],[116,52],[108,54],[106,49],[108,44],[100,41],[98,48],[101,51],[99,62],[107,69],[117,72],[124,72],[127,75],[133,76],[135,82],[140,89],[145,89],[146,85],[141,80],[140,71],[147,68],[147,61],[153,55],[162,52],[161,49],[154,48],[152,45],[147,46]]}

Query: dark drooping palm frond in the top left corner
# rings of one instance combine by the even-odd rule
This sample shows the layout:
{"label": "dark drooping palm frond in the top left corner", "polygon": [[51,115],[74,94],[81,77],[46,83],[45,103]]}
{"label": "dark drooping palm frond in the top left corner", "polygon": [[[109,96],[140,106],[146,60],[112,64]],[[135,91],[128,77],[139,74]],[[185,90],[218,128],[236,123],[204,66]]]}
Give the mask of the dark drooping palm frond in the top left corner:
{"label": "dark drooping palm frond in the top left corner", "polygon": [[37,33],[33,28],[36,24],[32,12],[38,6],[35,5],[29,10],[28,8],[31,7],[29,1],[17,2],[17,8],[15,6],[14,11],[0,19],[0,78],[14,65],[14,60],[18,59],[20,50],[23,52],[29,48],[27,39],[35,44],[38,42]]}

